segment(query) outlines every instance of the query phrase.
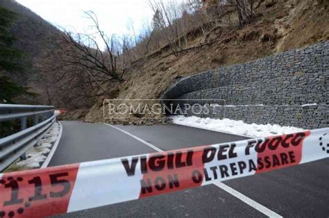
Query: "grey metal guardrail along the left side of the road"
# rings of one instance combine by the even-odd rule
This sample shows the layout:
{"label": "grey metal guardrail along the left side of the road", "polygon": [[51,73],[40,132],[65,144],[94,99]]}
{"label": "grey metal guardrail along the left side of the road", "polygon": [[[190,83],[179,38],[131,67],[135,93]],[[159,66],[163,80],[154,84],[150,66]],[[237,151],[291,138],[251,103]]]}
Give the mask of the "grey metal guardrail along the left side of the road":
{"label": "grey metal guardrail along the left side of the road", "polygon": [[[27,119],[33,126],[27,128]],[[0,122],[20,119],[21,131],[0,139],[0,172],[6,169],[44,136],[56,121],[53,106],[0,104]]]}

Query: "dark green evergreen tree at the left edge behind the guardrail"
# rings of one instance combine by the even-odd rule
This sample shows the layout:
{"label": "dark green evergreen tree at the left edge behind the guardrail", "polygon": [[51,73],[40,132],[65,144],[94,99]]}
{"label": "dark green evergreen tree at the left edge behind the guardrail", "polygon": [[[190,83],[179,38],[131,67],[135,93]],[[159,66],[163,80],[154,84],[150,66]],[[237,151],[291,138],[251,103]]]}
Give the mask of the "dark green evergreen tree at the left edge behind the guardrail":
{"label": "dark green evergreen tree at the left edge behind the guardrail", "polygon": [[27,87],[18,85],[5,76],[22,72],[22,60],[24,53],[12,47],[15,37],[9,33],[10,27],[15,24],[17,15],[0,6],[0,103],[14,103],[15,97],[22,95],[33,96]]}

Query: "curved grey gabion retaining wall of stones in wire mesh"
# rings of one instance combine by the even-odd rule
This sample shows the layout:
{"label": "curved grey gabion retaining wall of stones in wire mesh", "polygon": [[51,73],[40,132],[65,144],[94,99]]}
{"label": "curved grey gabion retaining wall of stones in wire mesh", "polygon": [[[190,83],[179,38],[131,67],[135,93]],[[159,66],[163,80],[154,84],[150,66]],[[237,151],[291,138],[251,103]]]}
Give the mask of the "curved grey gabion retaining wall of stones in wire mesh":
{"label": "curved grey gabion retaining wall of stones in wire mesh", "polygon": [[225,99],[230,106],[219,107],[218,118],[322,128],[329,124],[328,77],[329,42],[321,42],[186,76],[173,83],[162,99]]}

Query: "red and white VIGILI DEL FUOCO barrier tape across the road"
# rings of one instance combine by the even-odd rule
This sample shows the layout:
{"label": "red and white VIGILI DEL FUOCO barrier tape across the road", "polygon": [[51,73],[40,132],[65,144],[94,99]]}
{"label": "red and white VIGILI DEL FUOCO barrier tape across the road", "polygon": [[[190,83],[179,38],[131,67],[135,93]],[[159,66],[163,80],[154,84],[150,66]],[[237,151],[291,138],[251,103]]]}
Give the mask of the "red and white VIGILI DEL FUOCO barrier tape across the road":
{"label": "red and white VIGILI DEL FUOCO barrier tape across the road", "polygon": [[329,128],[0,174],[0,217],[47,217],[329,157]]}

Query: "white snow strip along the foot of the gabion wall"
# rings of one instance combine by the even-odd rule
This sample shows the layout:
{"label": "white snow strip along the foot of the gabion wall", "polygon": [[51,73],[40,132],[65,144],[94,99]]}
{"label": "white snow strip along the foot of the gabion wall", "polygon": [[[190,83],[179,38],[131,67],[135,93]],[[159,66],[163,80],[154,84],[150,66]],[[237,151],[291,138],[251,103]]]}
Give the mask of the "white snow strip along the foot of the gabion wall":
{"label": "white snow strip along the foot of the gabion wall", "polygon": [[248,137],[267,137],[271,135],[285,135],[298,133],[302,128],[292,126],[279,126],[277,124],[246,124],[242,120],[210,119],[200,117],[184,117],[183,115],[171,117],[174,124],[203,128],[210,131],[219,131]]}

